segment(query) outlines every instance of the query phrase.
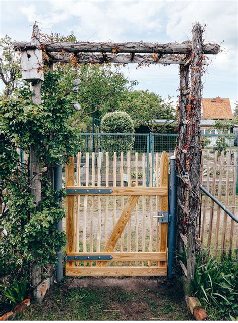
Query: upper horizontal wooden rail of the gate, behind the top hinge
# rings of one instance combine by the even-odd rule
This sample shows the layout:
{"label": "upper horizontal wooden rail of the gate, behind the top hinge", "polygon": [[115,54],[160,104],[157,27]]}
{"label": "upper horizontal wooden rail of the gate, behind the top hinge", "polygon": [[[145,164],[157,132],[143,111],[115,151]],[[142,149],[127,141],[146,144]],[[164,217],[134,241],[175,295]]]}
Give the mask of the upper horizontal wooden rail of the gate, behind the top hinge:
{"label": "upper horizontal wooden rail of the gate, behind the top hinge", "polygon": [[110,189],[112,190],[112,193],[90,193],[90,191],[88,193],[70,193],[68,194],[70,195],[99,195],[99,196],[165,196],[168,199],[168,187],[166,186],[162,186],[162,187],[143,187],[143,186],[131,186],[131,187],[112,187],[112,186],[83,186],[83,187],[72,187],[72,186],[67,186],[66,188],[70,188],[70,189],[77,189],[77,188],[83,188],[83,189],[91,189],[91,188],[96,188],[96,189]]}

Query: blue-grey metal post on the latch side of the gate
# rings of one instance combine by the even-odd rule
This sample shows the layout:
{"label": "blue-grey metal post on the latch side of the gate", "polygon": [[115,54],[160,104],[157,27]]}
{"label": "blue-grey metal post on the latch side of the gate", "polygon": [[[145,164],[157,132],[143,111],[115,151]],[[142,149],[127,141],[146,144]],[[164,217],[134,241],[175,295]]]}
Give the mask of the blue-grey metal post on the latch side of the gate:
{"label": "blue-grey metal post on the latch side of the gate", "polygon": [[175,156],[169,158],[170,177],[169,177],[169,232],[168,232],[168,279],[174,276],[174,265],[176,256],[176,211],[177,211],[177,175],[175,170]]}

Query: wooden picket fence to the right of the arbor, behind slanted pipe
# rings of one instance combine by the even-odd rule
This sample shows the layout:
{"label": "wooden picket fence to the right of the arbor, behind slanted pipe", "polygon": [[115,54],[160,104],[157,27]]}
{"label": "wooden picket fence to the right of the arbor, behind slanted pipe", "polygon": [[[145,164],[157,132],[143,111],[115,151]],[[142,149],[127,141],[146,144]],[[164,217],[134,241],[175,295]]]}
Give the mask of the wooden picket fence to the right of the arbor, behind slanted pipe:
{"label": "wooden picket fence to the right of the arbor, behind slanted pipe", "polygon": [[[233,214],[237,210],[236,156],[228,151],[203,151],[201,159],[201,183]],[[236,215],[237,216],[237,215]],[[208,196],[202,195],[200,214],[200,239],[208,253],[231,255],[237,250],[237,224]]]}

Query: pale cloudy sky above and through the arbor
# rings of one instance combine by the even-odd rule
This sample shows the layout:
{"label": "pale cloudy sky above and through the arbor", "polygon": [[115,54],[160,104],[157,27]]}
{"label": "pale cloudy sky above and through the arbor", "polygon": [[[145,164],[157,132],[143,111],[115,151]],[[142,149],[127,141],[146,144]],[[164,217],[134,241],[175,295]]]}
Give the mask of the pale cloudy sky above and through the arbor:
{"label": "pale cloudy sky above and through the arbor", "polygon": [[[204,38],[221,44],[218,55],[209,55],[203,78],[203,97],[237,95],[237,2],[236,1],[80,1],[0,0],[0,37],[30,41],[32,24],[44,33],[67,35],[74,31],[80,41],[182,42],[191,39],[195,22],[206,25]],[[138,80],[137,89],[148,89],[167,98],[178,95],[178,66],[129,64],[123,72]]]}

